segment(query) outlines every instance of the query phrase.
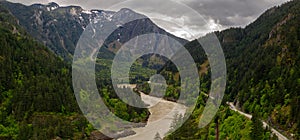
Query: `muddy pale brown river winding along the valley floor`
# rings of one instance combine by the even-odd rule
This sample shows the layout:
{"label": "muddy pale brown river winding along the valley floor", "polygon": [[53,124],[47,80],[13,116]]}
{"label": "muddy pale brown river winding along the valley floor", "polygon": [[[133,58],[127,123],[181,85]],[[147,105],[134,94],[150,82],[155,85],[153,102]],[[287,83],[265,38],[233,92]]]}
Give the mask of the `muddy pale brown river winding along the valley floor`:
{"label": "muddy pale brown river winding along the valley floor", "polygon": [[175,115],[184,115],[187,109],[184,105],[152,97],[144,93],[141,93],[141,98],[146,104],[150,105],[149,111],[151,114],[147,125],[145,127],[132,128],[136,132],[135,135],[119,138],[119,140],[153,140],[156,133],[164,137],[169,131]]}

